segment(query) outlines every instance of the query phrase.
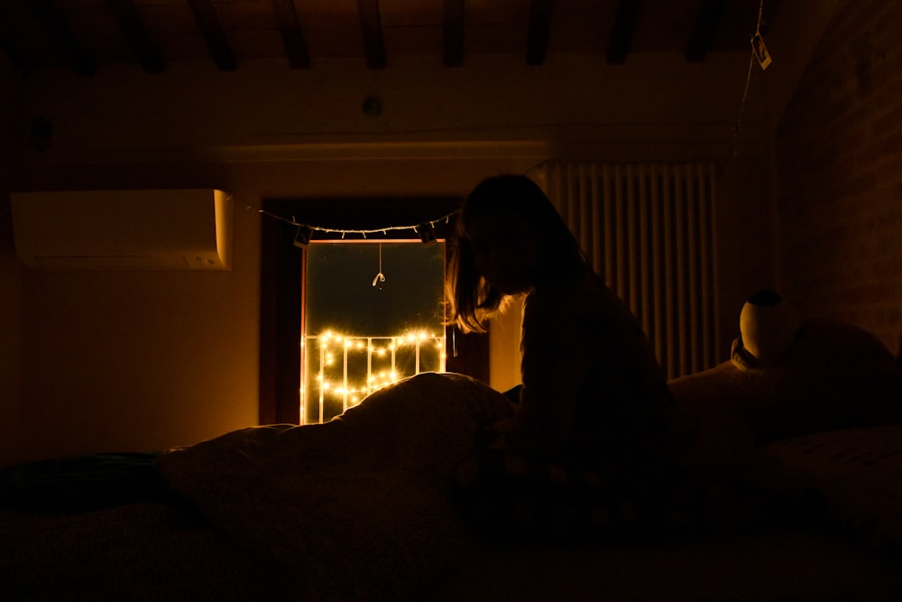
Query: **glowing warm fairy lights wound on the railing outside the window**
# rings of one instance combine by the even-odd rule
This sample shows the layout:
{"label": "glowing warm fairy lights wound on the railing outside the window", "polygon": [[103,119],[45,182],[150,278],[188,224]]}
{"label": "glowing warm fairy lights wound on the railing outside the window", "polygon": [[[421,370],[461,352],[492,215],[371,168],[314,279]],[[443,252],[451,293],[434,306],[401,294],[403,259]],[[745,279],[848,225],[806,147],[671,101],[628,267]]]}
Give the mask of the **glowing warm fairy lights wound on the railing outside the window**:
{"label": "glowing warm fairy lights wound on the railing outside the window", "polygon": [[445,336],[413,329],[394,337],[327,330],[301,341],[307,385],[301,421],[323,422],[382,387],[421,372],[445,371]]}

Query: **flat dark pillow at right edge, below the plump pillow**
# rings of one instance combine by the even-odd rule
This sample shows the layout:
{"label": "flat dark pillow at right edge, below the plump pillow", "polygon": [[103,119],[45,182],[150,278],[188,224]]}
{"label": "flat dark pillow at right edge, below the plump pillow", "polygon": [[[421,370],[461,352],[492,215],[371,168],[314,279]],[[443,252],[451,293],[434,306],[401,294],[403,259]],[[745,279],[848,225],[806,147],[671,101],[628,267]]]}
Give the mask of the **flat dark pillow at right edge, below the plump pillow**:
{"label": "flat dark pillow at right edge, below the plump pillow", "polygon": [[753,480],[873,548],[902,550],[902,426],[770,443]]}

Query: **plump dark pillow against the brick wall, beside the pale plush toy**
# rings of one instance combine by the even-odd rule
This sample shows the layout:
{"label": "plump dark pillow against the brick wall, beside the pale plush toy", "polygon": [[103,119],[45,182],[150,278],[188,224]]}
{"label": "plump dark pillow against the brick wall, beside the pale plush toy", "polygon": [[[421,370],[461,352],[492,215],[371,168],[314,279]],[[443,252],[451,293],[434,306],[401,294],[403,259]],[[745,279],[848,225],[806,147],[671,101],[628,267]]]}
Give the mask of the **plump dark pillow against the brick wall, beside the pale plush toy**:
{"label": "plump dark pillow against the brick wall, beside the pale plush toy", "polygon": [[743,450],[749,437],[764,443],[902,424],[896,358],[870,332],[839,321],[805,321],[778,366],[741,370],[728,360],[669,384],[678,411],[698,437],[712,437],[712,428],[728,429]]}

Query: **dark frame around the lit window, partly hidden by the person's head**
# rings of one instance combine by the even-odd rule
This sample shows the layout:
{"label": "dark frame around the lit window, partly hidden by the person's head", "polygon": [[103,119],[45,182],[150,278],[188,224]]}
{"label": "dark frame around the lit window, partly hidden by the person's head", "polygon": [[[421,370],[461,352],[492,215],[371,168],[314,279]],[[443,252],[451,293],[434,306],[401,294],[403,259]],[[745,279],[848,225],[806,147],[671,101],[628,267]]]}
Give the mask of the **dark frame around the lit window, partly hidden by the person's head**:
{"label": "dark frame around the lit window, partly hidden by the person's head", "polygon": [[[309,248],[327,236],[314,232],[311,245],[303,250],[294,244],[299,228],[293,222],[339,229],[407,226],[448,215],[460,207],[460,202],[459,198],[448,197],[263,200],[265,215],[261,221],[260,254],[261,424],[297,424],[301,421],[301,343],[303,326],[308,320],[304,310],[304,298],[308,292],[304,286],[304,273],[308,266]],[[439,243],[447,236],[453,223],[452,218],[445,224],[437,225]],[[389,234],[391,236],[368,236],[367,242],[387,243],[391,237],[395,240],[408,238],[422,245],[419,235],[413,230],[395,230]],[[341,236],[333,238],[333,242],[338,242]],[[359,236],[354,242],[361,242]],[[374,267],[377,269],[373,270]],[[378,264],[367,268],[364,278],[366,286],[372,286],[377,271]],[[394,278],[394,274],[387,272],[386,282]],[[394,336],[395,332],[388,334]],[[488,383],[488,338],[485,335],[462,335],[450,328],[446,328],[442,335],[446,342],[446,371],[471,375]]]}

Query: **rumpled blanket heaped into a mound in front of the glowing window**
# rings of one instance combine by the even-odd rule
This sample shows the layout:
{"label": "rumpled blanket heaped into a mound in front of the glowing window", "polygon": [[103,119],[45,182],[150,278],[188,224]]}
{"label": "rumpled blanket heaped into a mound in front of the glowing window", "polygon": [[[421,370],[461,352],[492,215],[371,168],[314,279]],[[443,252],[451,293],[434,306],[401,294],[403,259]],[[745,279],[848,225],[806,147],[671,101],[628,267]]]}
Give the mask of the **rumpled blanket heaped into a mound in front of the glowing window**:
{"label": "rumpled blanket heaped into a mound in front of the glowing window", "polygon": [[234,431],[158,459],[166,484],[290,579],[297,599],[415,599],[471,533],[451,505],[511,403],[464,375],[384,388],[325,424]]}

